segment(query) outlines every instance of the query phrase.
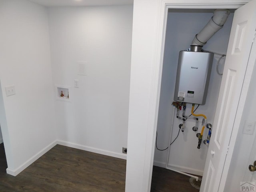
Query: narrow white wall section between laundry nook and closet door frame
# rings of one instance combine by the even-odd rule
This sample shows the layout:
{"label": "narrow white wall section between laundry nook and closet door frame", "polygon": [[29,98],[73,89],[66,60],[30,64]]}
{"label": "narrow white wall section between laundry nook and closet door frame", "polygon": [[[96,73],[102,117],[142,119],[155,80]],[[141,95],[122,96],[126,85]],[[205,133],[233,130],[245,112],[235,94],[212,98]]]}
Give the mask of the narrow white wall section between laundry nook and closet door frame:
{"label": "narrow white wall section between laundry nook and closet door frame", "polygon": [[[126,192],[144,192],[152,174],[148,156],[150,91],[155,64],[156,0],[134,0],[132,25],[132,63],[128,124],[128,153],[126,162]],[[154,102],[154,101],[153,101]],[[151,154],[150,154],[151,155]],[[147,181],[147,182],[146,182]]]}

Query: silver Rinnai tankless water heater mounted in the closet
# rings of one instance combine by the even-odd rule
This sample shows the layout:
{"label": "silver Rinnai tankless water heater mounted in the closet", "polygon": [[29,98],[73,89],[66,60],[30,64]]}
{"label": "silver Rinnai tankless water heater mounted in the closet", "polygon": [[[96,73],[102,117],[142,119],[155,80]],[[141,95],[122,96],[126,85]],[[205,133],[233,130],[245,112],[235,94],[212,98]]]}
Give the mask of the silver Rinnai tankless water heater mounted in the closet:
{"label": "silver Rinnai tankless water heater mounted in the closet", "polygon": [[214,53],[180,51],[174,100],[205,104]]}

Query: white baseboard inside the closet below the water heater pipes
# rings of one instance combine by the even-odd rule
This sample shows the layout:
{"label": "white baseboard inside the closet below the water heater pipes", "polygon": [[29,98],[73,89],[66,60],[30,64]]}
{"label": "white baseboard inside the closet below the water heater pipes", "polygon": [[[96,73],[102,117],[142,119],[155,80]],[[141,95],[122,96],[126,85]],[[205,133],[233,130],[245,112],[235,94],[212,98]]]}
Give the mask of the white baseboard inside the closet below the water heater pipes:
{"label": "white baseboard inside the closet below the water heater pipes", "polygon": [[[159,162],[159,161],[154,161],[154,166],[165,168],[165,163],[164,162]],[[185,172],[185,173],[188,173],[188,174],[199,175],[199,176],[202,176],[203,172],[204,172],[203,170],[194,169],[194,168],[190,168],[190,167],[179,166],[179,165],[174,165],[174,164],[168,164],[167,167],[171,168],[171,169],[178,170],[178,171],[182,171],[182,172]]]}

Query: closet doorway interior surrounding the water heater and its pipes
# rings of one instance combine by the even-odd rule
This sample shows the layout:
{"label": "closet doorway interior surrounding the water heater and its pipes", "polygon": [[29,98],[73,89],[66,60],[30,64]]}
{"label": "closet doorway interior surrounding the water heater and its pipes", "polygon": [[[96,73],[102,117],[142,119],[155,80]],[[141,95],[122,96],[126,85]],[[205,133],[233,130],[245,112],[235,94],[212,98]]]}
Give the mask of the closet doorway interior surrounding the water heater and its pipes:
{"label": "closet doorway interior surrounding the water heater and its pipes", "polygon": [[[190,47],[194,36],[207,24],[213,12],[214,9],[168,9],[152,192],[174,189],[180,192],[199,191],[190,184],[190,176],[188,175],[191,174],[199,178],[203,176],[208,145],[207,142],[206,144],[202,142],[200,149],[198,149],[198,137],[196,136],[201,132],[203,118],[198,118],[199,126],[197,130],[193,129],[195,126],[197,127],[196,121],[187,119],[186,127],[181,131],[180,124],[183,123],[183,120],[176,118],[176,107],[172,105],[172,102],[174,101],[179,52]],[[226,54],[233,16],[234,9],[230,10],[230,15],[223,28],[216,32],[203,46],[204,50]],[[214,120],[222,80],[222,76],[218,72],[222,73],[225,62],[225,57],[220,57],[221,55],[214,54],[206,103],[195,106],[195,108],[198,107],[195,113],[205,114],[207,123],[210,124]],[[217,64],[218,71],[216,70]],[[191,114],[191,109],[192,104],[187,103],[186,116]],[[208,130],[206,129],[202,140],[206,140],[207,136]],[[166,183],[164,183],[164,178],[172,178],[172,182],[166,180]],[[182,182],[179,183],[178,181],[181,180]]]}

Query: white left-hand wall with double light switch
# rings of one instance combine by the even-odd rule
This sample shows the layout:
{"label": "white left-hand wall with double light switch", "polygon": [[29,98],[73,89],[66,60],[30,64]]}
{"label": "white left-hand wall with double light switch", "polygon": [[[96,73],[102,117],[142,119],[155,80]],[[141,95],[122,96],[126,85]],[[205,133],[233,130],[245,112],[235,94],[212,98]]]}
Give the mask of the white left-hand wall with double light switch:
{"label": "white left-hand wall with double light switch", "polygon": [[[0,123],[8,170],[16,174],[56,139],[47,10],[1,0],[0,26]],[[6,97],[10,85],[16,95]]]}

